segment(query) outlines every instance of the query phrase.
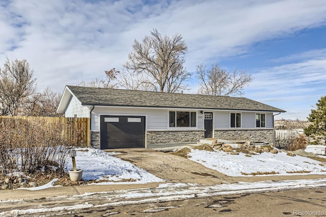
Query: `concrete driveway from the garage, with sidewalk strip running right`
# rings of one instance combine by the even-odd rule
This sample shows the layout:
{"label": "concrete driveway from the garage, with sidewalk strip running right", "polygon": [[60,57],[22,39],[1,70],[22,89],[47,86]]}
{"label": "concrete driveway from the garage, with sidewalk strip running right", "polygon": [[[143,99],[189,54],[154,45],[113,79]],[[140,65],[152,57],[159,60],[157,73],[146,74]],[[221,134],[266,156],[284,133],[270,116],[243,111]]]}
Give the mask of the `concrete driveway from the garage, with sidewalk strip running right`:
{"label": "concrete driveway from the garage, with sidewalk strip running right", "polygon": [[153,175],[165,179],[167,182],[221,184],[239,181],[253,182],[325,178],[324,175],[231,177],[169,152],[145,148],[110,149],[107,151],[120,152],[114,156],[143,168]]}

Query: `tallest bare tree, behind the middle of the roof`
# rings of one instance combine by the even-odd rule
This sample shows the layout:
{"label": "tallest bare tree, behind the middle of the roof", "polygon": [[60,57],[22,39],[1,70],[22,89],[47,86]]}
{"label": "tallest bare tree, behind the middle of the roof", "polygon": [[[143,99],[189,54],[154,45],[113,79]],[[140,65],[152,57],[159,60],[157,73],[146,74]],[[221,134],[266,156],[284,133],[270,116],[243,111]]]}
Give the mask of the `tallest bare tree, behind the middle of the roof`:
{"label": "tallest bare tree, behind the middle of the roof", "polygon": [[191,73],[183,67],[186,51],[181,35],[162,37],[157,29],[153,29],[142,42],[134,40],[124,68],[146,78],[141,83],[149,89],[178,92],[187,89],[184,82],[191,78]]}

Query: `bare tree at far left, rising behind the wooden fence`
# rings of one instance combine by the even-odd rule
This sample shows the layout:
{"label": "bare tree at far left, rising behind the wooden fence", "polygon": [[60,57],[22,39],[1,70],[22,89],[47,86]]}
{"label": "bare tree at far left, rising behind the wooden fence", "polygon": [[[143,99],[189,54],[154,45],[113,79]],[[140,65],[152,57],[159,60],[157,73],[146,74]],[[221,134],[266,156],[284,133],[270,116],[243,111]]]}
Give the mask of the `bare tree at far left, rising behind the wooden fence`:
{"label": "bare tree at far left, rising behind the wooden fence", "polygon": [[22,105],[36,92],[34,71],[28,62],[23,60],[6,60],[4,68],[0,68],[0,114],[17,115]]}

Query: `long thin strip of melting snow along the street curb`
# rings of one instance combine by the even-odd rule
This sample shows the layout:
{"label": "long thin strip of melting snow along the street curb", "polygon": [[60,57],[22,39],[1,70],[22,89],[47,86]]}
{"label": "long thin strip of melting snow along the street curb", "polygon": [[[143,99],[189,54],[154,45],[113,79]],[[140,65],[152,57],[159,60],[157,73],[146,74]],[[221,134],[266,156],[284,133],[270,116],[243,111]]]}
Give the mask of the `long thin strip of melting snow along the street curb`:
{"label": "long thin strip of melting snow along the street curb", "polygon": [[[0,212],[1,216],[19,216],[26,214],[39,214],[53,211],[65,211],[86,208],[103,208],[112,206],[122,206],[131,204],[157,203],[165,201],[178,201],[194,198],[206,198],[221,195],[234,195],[246,193],[262,193],[273,191],[285,191],[295,189],[325,188],[326,179],[302,179],[284,181],[258,181],[258,182],[238,182],[213,185],[201,185],[194,183],[165,183],[157,188],[143,188],[132,190],[119,190],[114,192],[86,193],[82,195],[60,196],[61,200],[81,200],[96,198],[96,204],[84,203],[72,206],[60,206],[34,209],[14,209]],[[102,200],[103,199],[103,200]],[[103,203],[101,203],[103,201]],[[111,201],[108,202],[107,201]],[[22,203],[23,200],[1,201],[0,203]]]}

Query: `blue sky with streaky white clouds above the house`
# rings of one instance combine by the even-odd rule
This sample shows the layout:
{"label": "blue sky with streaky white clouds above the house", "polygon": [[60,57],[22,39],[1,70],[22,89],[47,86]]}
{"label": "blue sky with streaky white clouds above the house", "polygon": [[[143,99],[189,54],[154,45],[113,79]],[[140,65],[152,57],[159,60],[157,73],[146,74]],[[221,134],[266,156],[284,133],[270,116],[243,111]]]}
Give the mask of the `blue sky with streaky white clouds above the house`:
{"label": "blue sky with streaky white clouds above the house", "polygon": [[287,111],[276,119],[305,120],[326,95],[324,0],[0,0],[0,67],[26,59],[39,90],[63,92],[122,69],[153,28],[187,44],[189,93],[203,63],[251,74],[243,97]]}

